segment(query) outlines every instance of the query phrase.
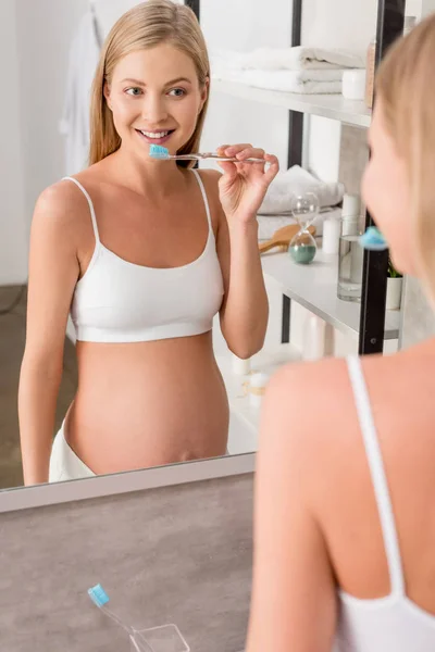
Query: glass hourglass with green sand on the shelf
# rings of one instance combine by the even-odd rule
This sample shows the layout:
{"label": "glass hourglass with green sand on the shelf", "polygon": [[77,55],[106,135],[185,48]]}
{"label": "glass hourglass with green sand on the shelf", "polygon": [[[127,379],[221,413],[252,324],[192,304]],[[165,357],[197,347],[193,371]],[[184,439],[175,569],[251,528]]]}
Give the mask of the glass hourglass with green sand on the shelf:
{"label": "glass hourglass with green sand on the shelf", "polygon": [[308,265],[314,260],[318,251],[315,240],[308,230],[319,214],[318,196],[314,192],[295,196],[291,199],[291,213],[300,230],[290,241],[288,251],[295,263]]}

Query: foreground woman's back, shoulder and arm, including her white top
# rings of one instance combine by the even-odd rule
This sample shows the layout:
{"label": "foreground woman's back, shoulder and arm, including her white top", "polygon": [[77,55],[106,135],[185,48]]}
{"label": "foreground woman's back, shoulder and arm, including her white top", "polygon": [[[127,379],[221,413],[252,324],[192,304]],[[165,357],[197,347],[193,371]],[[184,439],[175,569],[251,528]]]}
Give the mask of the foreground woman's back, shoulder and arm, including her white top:
{"label": "foreground woman's back, shoulder and arm, including her white top", "polygon": [[249,652],[435,649],[435,342],[348,364],[268,389]]}

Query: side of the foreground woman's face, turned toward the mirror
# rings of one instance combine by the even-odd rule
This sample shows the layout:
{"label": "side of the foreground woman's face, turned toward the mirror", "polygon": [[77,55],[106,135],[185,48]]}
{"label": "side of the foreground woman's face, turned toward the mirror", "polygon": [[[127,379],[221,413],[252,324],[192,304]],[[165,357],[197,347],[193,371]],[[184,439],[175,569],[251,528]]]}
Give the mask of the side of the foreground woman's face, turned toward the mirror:
{"label": "side of the foreground woman's face, turned toward the mirror", "polygon": [[410,179],[406,161],[387,130],[382,100],[374,109],[369,143],[372,155],[362,181],[364,202],[388,242],[395,267],[414,275]]}

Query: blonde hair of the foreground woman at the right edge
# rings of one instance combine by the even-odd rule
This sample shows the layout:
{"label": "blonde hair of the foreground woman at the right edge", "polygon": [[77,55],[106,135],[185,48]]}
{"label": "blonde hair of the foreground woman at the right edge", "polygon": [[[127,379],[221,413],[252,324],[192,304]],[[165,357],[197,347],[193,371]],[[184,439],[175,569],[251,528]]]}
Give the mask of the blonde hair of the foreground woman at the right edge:
{"label": "blonde hair of the foreground woman at the right edge", "polygon": [[391,47],[375,87],[408,166],[421,279],[435,299],[435,15]]}

